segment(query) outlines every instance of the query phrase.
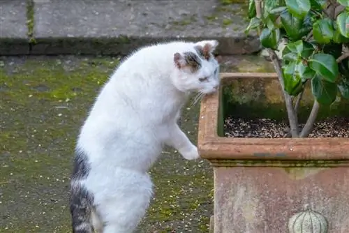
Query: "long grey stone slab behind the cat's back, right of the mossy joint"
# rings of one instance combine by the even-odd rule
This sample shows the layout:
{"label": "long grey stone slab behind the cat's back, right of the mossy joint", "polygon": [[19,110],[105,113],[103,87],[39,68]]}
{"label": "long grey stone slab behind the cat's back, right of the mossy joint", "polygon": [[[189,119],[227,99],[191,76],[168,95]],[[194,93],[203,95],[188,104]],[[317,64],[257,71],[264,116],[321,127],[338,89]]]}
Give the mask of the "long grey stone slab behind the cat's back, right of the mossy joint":
{"label": "long grey stone slab behind the cat's back, right of the mossy joint", "polygon": [[260,50],[246,4],[219,0],[34,0],[31,54],[128,54],[163,40],[216,38],[220,54]]}

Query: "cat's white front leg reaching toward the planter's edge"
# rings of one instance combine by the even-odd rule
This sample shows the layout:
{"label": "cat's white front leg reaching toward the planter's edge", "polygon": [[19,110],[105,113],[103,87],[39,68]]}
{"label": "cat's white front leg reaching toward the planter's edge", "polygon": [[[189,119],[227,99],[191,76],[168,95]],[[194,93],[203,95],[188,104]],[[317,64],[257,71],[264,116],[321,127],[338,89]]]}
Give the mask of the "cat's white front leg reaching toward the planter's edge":
{"label": "cat's white front leg reaching toward the planter's edge", "polygon": [[168,128],[168,137],[165,144],[174,147],[187,160],[199,158],[198,148],[191,143],[186,134],[179,128],[177,123],[173,123]]}

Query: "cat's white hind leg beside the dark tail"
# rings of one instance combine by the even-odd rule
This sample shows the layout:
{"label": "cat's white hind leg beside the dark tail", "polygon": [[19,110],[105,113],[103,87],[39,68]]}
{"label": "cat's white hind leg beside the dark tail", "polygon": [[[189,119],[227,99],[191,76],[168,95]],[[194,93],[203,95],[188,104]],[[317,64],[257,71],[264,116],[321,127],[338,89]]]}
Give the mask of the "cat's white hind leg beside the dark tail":
{"label": "cat's white hind leg beside the dark tail", "polygon": [[103,233],[132,233],[148,209],[153,184],[147,173],[124,169],[116,173],[97,195],[96,209]]}

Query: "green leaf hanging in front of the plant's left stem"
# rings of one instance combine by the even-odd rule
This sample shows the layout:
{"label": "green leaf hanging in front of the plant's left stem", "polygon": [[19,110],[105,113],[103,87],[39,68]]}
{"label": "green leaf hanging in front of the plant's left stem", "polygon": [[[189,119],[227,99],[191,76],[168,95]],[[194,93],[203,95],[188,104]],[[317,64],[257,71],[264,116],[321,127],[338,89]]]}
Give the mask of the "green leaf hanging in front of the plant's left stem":
{"label": "green leaf hanging in front of the plant's left stem", "polygon": [[290,62],[283,66],[283,83],[285,84],[285,91],[291,96],[297,96],[302,91],[302,80],[296,72],[296,63]]}

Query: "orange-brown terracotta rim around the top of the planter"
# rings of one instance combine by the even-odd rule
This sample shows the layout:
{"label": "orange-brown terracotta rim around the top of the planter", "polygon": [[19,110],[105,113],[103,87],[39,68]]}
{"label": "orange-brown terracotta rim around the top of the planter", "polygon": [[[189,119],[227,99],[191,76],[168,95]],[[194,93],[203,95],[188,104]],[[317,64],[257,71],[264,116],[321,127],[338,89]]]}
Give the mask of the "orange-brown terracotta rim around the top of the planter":
{"label": "orange-brown terracotta rim around the top of the planter", "polygon": [[[220,73],[221,87],[242,78],[277,79],[276,73]],[[198,150],[209,160],[349,160],[348,137],[234,138],[219,137],[220,91],[205,96],[200,106]]]}

